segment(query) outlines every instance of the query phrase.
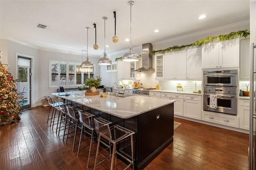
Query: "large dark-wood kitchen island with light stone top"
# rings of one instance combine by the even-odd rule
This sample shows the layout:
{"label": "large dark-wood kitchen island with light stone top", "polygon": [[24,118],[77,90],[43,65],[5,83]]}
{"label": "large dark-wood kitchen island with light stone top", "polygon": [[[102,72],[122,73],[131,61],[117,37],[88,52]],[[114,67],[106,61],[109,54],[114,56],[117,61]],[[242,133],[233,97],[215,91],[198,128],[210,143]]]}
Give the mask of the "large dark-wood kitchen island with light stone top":
{"label": "large dark-wood kitchen island with light stone top", "polygon": [[[82,91],[59,95],[69,104],[128,128],[134,134],[134,169],[145,168],[156,156],[173,142],[174,100],[144,96],[100,98],[100,95],[85,96]],[[70,95],[69,95],[70,94]],[[130,156],[129,141],[118,149]]]}

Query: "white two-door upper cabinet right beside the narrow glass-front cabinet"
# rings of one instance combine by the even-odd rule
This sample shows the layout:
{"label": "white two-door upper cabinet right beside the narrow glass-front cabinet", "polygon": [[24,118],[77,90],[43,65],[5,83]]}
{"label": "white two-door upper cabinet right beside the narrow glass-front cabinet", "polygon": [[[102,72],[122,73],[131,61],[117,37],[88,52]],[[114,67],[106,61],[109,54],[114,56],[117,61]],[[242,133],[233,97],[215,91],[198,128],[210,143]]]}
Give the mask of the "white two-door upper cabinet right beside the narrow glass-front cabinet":
{"label": "white two-door upper cabinet right beside the narrow glass-front cabinet", "polygon": [[165,79],[187,78],[187,51],[175,51],[165,55]]}

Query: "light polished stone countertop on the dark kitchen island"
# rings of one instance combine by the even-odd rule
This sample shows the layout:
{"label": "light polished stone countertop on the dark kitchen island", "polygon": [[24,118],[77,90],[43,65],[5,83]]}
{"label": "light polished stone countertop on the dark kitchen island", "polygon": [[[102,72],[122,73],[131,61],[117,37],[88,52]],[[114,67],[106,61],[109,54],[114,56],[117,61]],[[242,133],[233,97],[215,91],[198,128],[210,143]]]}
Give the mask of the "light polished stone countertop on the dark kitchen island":
{"label": "light polished stone countertop on the dark kitchen island", "polygon": [[58,95],[58,93],[52,93],[52,95],[122,119],[128,119],[175,102],[175,100],[158,99],[139,95],[130,97],[115,97],[108,95],[108,97],[103,98],[100,97],[100,95],[84,95],[84,91],[67,93],[70,95]]}

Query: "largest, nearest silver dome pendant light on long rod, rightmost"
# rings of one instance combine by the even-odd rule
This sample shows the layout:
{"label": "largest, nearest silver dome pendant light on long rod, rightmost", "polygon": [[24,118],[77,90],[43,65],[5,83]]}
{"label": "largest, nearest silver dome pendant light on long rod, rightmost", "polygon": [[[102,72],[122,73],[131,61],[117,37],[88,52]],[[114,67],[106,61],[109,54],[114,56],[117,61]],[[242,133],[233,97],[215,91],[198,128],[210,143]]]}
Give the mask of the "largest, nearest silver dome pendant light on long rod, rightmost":
{"label": "largest, nearest silver dome pendant light on long rod, rightmost", "polygon": [[129,1],[128,5],[130,5],[130,51],[125,53],[122,57],[122,61],[140,61],[140,56],[137,53],[132,52],[132,5],[134,4],[133,1]]}

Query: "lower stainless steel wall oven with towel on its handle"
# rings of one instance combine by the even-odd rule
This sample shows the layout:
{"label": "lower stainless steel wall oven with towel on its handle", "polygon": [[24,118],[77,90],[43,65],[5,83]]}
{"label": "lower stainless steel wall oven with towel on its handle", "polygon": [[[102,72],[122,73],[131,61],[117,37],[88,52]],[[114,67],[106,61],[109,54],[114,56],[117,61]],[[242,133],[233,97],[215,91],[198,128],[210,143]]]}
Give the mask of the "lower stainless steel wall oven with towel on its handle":
{"label": "lower stainless steel wall oven with towel on its handle", "polygon": [[[237,114],[237,95],[236,87],[204,87],[204,111]],[[217,108],[210,107],[210,96],[216,95]]]}

